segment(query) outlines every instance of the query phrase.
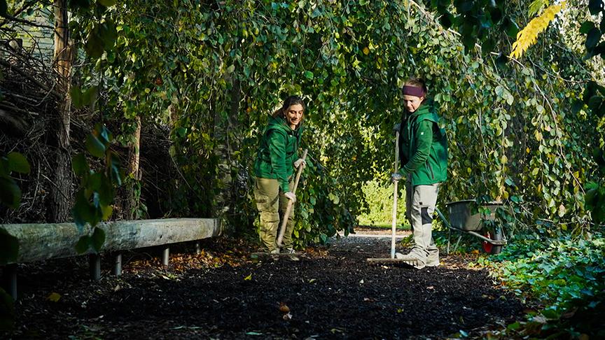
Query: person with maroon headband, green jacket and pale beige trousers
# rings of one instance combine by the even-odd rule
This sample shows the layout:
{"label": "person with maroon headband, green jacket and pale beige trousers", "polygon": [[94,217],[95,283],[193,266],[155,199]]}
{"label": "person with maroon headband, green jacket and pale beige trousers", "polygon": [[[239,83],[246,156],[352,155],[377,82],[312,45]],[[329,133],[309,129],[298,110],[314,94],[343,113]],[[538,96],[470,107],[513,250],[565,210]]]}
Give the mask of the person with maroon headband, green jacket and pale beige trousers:
{"label": "person with maroon headband, green jacket and pale beige trousers", "polygon": [[439,127],[436,104],[426,97],[422,80],[403,86],[405,112],[401,116],[399,155],[401,167],[392,180],[405,177],[405,215],[410,221],[414,247],[396,258],[417,269],[439,265],[439,250],[431,235],[439,185],[447,179],[447,136]]}

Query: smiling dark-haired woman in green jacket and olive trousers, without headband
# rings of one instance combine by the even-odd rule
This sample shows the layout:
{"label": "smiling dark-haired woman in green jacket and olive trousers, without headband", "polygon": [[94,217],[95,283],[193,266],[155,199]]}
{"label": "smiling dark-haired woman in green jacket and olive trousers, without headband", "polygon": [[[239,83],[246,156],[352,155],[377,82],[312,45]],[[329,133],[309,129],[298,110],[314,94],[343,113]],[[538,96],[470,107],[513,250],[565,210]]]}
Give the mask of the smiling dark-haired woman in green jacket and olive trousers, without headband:
{"label": "smiling dark-haired woman in green jacket and olive trousers, without headband", "polygon": [[[294,169],[304,167],[298,158],[298,146],[302,134],[302,117],[305,103],[300,97],[288,97],[272,118],[260,141],[254,174],[254,198],[260,212],[260,242],[267,253],[279,253],[276,238],[280,215],[284,215],[288,199],[293,203],[296,196],[291,192]],[[293,209],[286,223],[282,240],[287,253],[294,253],[292,231],[294,229]],[[295,260],[295,257],[291,257]]]}

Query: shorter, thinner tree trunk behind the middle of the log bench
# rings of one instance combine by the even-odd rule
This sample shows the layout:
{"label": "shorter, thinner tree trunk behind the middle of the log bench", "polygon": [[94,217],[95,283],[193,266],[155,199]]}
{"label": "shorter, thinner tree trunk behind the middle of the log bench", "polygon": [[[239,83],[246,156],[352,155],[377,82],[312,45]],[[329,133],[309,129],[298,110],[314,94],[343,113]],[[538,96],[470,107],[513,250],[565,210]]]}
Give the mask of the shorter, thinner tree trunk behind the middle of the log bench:
{"label": "shorter, thinner tree trunk behind the middle of the log bench", "polygon": [[126,186],[126,201],[124,204],[124,216],[126,220],[134,220],[137,218],[134,213],[139,207],[139,197],[140,191],[137,194],[137,182],[141,180],[141,175],[139,171],[139,156],[140,156],[140,147],[141,147],[141,118],[137,116],[136,118],[137,128],[134,130],[134,139],[132,141],[132,145],[130,146],[130,150],[128,151],[128,164],[127,164],[127,176],[130,177],[132,173],[132,178],[129,178]]}

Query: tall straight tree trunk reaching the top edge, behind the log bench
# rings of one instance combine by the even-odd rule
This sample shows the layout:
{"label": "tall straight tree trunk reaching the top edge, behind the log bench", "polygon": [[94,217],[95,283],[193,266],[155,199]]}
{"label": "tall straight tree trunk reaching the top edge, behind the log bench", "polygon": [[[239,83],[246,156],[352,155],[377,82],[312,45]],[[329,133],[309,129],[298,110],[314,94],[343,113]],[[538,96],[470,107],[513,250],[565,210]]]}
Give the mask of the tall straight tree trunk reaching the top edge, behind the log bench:
{"label": "tall straight tree trunk reaching the top edge, behind the log bench", "polygon": [[69,219],[71,208],[71,146],[69,143],[69,120],[71,116],[71,43],[69,41],[69,17],[67,0],[55,0],[55,59],[57,92],[62,98],[57,100],[57,117],[53,127],[57,137],[57,157],[53,178],[50,220],[64,222]]}

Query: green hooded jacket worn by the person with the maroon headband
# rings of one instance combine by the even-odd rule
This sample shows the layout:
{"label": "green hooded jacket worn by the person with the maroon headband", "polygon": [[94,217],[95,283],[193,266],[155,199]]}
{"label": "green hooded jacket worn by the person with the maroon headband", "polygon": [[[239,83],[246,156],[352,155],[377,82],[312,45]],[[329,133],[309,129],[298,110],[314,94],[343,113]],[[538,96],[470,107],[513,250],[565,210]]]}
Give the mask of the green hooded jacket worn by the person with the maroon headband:
{"label": "green hooded jacket worn by the person with the maroon headband", "polygon": [[403,113],[399,133],[399,173],[411,174],[413,185],[432,185],[447,178],[447,136],[440,129],[432,99],[414,113]]}

